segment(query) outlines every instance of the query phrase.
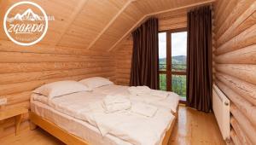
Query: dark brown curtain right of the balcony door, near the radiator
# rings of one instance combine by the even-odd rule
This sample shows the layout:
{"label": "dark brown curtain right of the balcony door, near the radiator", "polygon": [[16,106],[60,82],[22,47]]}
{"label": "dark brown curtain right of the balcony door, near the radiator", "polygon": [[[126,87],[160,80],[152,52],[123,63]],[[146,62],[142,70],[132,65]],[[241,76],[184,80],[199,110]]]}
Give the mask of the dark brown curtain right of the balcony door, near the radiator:
{"label": "dark brown curtain right of the balcony door, near the radiator", "polygon": [[188,13],[187,105],[212,109],[212,14],[209,6]]}

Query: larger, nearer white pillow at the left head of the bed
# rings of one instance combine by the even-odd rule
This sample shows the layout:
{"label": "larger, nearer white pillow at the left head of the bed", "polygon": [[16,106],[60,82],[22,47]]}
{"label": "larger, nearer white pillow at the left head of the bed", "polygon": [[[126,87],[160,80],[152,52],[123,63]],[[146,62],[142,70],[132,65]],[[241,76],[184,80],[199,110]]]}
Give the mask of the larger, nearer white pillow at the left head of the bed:
{"label": "larger, nearer white pillow at the left head of the bed", "polygon": [[49,99],[52,99],[55,96],[64,96],[81,91],[90,91],[90,88],[80,84],[79,82],[66,80],[44,84],[38,89],[33,90],[33,93],[41,94],[47,96]]}

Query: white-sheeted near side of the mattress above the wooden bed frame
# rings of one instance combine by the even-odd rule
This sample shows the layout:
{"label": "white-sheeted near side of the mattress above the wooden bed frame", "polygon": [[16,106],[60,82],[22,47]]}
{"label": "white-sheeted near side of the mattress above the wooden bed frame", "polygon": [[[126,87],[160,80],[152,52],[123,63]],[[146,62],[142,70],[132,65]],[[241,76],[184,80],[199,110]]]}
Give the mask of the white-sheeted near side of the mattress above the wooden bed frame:
{"label": "white-sheeted near side of the mattress above the wooden bed frame", "polygon": [[38,114],[44,119],[48,119],[50,122],[61,127],[61,129],[72,133],[75,136],[79,136],[85,141],[90,142],[90,144],[131,145],[131,143],[125,142],[116,136],[102,136],[100,131],[89,123],[75,119],[67,114],[60,113],[42,102],[34,101],[32,99],[31,109],[33,113]]}

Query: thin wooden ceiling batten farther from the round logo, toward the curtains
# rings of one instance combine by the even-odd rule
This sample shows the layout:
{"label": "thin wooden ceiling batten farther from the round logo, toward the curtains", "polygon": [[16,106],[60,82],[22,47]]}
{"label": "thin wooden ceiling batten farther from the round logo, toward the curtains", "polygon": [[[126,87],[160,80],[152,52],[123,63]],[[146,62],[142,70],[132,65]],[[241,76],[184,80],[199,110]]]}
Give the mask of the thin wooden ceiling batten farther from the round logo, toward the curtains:
{"label": "thin wooden ceiling batten farther from the round logo, toward the curtains", "polygon": [[104,32],[106,32],[108,30],[108,28],[113,24],[113,22],[119,17],[120,14],[122,14],[125,9],[136,0],[129,0],[128,2],[125,3],[125,5],[122,7],[122,9],[119,10],[119,12],[117,14],[115,14],[113,16],[113,18],[108,22],[108,25],[105,26],[102,31],[96,36],[96,38],[89,44],[89,46],[87,47],[87,49],[90,49],[94,44],[96,44],[96,41],[102,37],[102,35],[104,34]]}

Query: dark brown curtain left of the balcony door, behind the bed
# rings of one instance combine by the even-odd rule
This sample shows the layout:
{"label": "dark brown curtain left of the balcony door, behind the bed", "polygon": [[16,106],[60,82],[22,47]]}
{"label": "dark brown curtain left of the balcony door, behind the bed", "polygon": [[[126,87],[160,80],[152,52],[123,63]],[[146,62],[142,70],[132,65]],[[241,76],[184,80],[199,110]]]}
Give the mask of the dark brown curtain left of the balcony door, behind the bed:
{"label": "dark brown curtain left of the balcony door, behind the bed", "polygon": [[150,18],[132,32],[131,86],[159,89],[158,19]]}

